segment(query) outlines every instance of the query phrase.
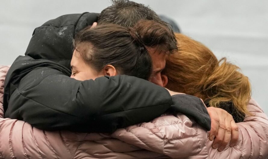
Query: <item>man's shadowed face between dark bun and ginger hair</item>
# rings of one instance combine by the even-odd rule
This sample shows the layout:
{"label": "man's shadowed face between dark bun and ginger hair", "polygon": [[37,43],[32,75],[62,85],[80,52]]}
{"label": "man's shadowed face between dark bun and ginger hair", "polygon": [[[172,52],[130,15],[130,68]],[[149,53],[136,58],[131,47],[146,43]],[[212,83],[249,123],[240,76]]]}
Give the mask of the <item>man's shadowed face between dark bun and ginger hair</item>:
{"label": "man's shadowed face between dark bun and ginger hair", "polygon": [[161,75],[162,70],[164,70],[166,66],[166,52],[160,52],[155,48],[147,48],[148,52],[151,55],[152,63],[153,63],[153,71],[151,76],[149,77],[149,81],[154,84],[165,86],[167,79],[165,76]]}

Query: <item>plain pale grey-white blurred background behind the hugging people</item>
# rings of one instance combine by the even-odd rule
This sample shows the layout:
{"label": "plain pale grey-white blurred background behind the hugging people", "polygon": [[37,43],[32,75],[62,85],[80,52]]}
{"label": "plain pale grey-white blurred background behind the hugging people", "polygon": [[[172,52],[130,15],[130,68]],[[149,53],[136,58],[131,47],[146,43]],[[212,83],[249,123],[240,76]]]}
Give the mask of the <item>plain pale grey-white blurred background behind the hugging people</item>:
{"label": "plain pale grey-white blurred background behind the hugging people", "polygon": [[[268,114],[268,1],[134,0],[172,18],[182,33],[201,41],[218,58],[249,77],[253,98]],[[96,12],[109,0],[9,0],[0,4],[0,65],[24,55],[33,30],[63,14]]]}

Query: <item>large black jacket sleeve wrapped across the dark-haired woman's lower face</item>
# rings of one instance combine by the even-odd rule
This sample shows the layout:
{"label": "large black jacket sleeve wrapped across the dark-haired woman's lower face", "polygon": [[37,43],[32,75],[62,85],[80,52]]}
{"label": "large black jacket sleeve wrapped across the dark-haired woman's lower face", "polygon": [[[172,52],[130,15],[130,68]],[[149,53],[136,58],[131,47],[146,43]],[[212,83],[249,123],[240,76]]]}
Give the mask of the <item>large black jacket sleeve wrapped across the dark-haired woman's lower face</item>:
{"label": "large black jacket sleeve wrapped across the dark-haired woman's lower face", "polygon": [[[13,64],[11,71],[25,58]],[[42,130],[111,133],[148,122],[172,104],[165,88],[143,79],[119,75],[78,81],[55,64],[42,64],[35,64],[39,67],[23,75],[19,85],[11,89],[5,117]],[[15,85],[15,78],[10,81],[11,87]]]}

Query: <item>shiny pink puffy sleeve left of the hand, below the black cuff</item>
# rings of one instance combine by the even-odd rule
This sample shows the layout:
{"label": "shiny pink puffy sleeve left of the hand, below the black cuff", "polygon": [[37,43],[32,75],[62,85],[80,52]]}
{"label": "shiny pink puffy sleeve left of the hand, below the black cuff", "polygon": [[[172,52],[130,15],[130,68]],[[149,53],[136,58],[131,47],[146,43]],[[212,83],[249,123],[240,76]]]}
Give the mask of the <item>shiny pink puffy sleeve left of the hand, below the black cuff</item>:
{"label": "shiny pink puffy sleeve left of the hand, below the black cuff", "polygon": [[187,158],[201,152],[207,133],[193,119],[178,113],[176,116],[164,114],[148,123],[118,129],[112,137],[171,158]]}

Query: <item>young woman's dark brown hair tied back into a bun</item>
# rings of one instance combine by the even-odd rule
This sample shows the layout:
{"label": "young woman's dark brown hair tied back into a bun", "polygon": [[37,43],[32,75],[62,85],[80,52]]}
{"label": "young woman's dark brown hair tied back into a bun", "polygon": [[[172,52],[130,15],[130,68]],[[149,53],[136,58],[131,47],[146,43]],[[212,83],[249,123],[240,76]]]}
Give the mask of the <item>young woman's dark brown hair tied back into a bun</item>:
{"label": "young woman's dark brown hair tied back into a bun", "polygon": [[140,21],[133,28],[106,24],[83,29],[73,44],[83,60],[98,71],[111,64],[120,74],[148,79],[152,63],[146,47],[173,51],[171,35],[169,29],[152,20]]}

